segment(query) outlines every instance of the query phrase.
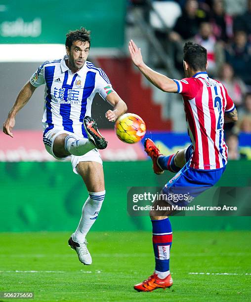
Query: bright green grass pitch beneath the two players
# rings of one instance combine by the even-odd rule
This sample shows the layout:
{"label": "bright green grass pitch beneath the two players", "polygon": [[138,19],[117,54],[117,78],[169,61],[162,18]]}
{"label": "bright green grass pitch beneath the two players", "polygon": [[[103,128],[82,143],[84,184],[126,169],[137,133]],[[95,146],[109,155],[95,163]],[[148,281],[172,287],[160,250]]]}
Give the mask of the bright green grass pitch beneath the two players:
{"label": "bright green grass pitch beneath the two players", "polygon": [[250,235],[174,231],[173,286],[138,293],[133,285],[154,268],[150,232],[90,232],[88,266],[68,247],[70,233],[0,233],[0,291],[34,292],[34,301],[53,302],[251,301]]}

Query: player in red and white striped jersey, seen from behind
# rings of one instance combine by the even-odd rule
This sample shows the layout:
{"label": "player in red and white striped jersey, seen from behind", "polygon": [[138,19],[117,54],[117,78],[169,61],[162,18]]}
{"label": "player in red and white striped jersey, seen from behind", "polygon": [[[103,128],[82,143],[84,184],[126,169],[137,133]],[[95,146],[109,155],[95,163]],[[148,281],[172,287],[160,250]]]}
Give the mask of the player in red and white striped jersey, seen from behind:
{"label": "player in red and white striped jersey, seen from behind", "polygon": [[[189,199],[178,201],[156,200],[150,211],[153,226],[155,271],[145,281],[134,286],[137,291],[153,291],[172,285],[169,255],[172,229],[168,218],[173,206],[186,206],[200,193],[220,179],[227,164],[227,146],[224,142],[225,122],[236,121],[237,111],[226,88],[219,81],[209,78],[207,50],[201,45],[187,42],[184,45],[185,78],[171,79],[150,69],[142,59],[140,48],[130,40],[129,52],[140,72],[164,92],[180,93],[183,98],[188,134],[191,145],[176,154],[164,156],[154,142],[145,140],[145,151],[152,158],[156,174],[164,170],[176,172],[162,189],[163,194],[184,193],[189,188]],[[185,194],[183,194],[185,196]],[[158,207],[166,211],[157,211]]]}

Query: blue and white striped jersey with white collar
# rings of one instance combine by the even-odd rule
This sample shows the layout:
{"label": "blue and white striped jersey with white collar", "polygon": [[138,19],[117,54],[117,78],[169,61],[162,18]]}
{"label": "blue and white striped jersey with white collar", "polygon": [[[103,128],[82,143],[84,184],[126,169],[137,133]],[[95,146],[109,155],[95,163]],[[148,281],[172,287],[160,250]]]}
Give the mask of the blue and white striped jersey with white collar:
{"label": "blue and white striped jersey with white collar", "polygon": [[33,74],[30,82],[38,87],[45,84],[42,125],[50,129],[67,130],[86,137],[83,119],[91,115],[91,104],[96,93],[104,99],[113,92],[109,78],[100,68],[86,61],[75,74],[63,59],[45,61]]}

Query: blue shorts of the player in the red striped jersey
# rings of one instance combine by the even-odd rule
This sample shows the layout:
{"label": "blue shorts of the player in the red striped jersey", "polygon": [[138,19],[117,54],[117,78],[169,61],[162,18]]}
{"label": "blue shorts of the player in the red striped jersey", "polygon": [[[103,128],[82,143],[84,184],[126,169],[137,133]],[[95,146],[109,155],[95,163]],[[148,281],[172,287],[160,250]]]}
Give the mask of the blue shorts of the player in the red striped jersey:
{"label": "blue shorts of the player in the red striped jersey", "polygon": [[186,206],[195,197],[214,186],[226,167],[215,170],[198,170],[189,162],[165,185],[163,194],[171,205]]}

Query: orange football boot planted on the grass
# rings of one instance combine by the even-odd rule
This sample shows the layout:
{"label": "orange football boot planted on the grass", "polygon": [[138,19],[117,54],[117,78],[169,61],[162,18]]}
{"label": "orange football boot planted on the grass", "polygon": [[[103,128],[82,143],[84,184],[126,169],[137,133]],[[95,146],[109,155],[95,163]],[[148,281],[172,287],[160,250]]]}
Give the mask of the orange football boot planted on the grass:
{"label": "orange football boot planted on the grass", "polygon": [[152,274],[147,280],[134,285],[138,292],[152,292],[158,288],[166,289],[172,286],[172,277],[169,274],[165,279],[158,278],[157,274]]}

